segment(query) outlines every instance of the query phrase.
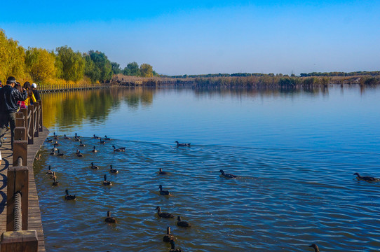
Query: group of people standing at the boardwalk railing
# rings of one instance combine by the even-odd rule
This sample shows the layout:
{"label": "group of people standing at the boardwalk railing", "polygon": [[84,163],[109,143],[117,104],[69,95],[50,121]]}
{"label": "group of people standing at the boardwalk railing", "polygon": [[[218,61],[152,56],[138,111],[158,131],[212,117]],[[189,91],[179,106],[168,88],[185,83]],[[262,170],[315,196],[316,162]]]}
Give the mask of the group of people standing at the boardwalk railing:
{"label": "group of people standing at the boardwalk railing", "polygon": [[13,76],[8,77],[4,86],[0,81],[0,146],[4,142],[4,135],[9,125],[11,129],[11,148],[13,150],[16,112],[20,108],[27,108],[30,104],[41,99],[36,87],[36,83],[30,84],[28,81],[22,86]]}

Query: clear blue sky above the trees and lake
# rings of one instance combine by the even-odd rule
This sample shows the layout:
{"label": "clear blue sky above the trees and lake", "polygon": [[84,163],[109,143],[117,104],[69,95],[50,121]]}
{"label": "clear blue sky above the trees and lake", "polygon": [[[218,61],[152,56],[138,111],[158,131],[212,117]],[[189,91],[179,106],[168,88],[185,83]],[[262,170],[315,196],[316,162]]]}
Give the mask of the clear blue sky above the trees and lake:
{"label": "clear blue sky above the trees and lake", "polygon": [[25,48],[100,50],[122,68],[148,63],[169,75],[380,70],[380,1],[4,1],[1,7],[0,28]]}

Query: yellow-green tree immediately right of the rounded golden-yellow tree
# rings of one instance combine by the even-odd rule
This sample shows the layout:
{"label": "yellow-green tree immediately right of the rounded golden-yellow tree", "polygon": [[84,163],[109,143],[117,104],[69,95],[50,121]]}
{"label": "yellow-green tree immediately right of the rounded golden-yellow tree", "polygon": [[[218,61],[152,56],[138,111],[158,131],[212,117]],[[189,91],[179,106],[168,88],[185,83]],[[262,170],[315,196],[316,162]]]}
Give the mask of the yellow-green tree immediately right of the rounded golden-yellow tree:
{"label": "yellow-green tree immediately right of the rounded golden-yellow tree", "polygon": [[62,62],[62,74],[60,78],[65,80],[81,80],[84,76],[85,60],[81,52],[74,52],[72,48],[61,46],[55,49],[57,60]]}

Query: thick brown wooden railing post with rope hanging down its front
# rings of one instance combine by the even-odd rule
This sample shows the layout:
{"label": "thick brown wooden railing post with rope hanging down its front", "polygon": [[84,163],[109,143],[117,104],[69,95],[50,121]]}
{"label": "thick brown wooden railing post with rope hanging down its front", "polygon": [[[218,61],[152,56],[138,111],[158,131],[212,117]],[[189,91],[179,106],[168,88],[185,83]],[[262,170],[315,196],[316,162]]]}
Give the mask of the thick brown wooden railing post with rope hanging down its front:
{"label": "thick brown wooden railing post with rope hanging down its front", "polygon": [[13,209],[15,208],[15,193],[20,192],[21,213],[22,213],[22,230],[28,229],[28,197],[29,197],[29,170],[28,167],[9,167],[6,201],[6,230],[14,230],[15,217]]}

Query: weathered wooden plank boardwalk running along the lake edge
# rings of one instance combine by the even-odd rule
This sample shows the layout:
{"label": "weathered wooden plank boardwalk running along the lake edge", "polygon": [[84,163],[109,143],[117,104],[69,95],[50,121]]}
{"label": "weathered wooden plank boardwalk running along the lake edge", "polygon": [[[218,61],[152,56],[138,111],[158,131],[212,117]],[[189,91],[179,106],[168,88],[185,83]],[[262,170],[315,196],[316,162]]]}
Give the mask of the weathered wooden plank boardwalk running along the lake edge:
{"label": "weathered wooden plank boardwalk running along the lake edge", "polygon": [[[39,197],[37,195],[36,183],[34,181],[33,162],[46,137],[48,129],[43,127],[39,137],[34,138],[34,144],[28,145],[27,167],[29,169],[29,207],[28,207],[28,230],[36,230],[39,238],[39,251],[45,252],[45,239],[43,237],[41,211],[39,209]],[[7,139],[0,147],[3,162],[0,165],[0,234],[6,232],[6,174],[8,167],[12,166],[13,152],[11,151],[11,131],[6,132]]]}

